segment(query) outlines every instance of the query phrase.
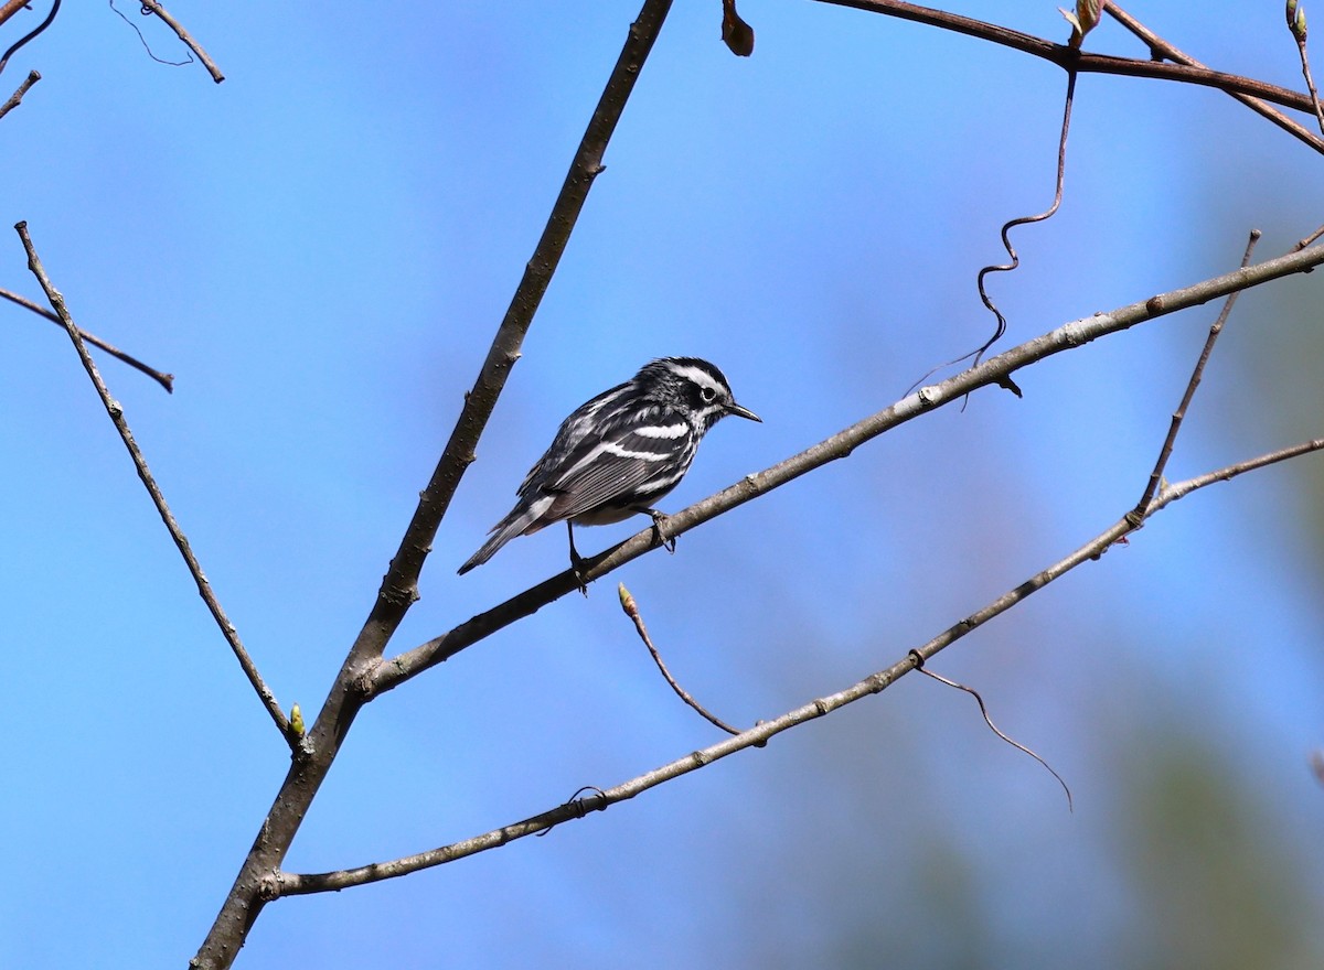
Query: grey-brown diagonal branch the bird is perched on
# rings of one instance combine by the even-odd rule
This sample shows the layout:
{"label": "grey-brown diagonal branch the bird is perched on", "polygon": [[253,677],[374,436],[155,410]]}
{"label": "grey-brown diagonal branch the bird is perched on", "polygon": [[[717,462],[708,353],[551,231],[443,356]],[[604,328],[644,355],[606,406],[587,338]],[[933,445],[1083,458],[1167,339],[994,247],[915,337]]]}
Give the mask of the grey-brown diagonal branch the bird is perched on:
{"label": "grey-brown diagonal branch the bird is perched on", "polygon": [[[814,468],[846,458],[854,449],[871,438],[876,438],[879,434],[916,418],[924,412],[959,401],[978,388],[1000,384],[1019,368],[1034,364],[1045,357],[1070,351],[1091,340],[1108,333],[1116,333],[1147,320],[1227,296],[1239,290],[1259,286],[1294,273],[1305,273],[1320,263],[1324,263],[1324,246],[1312,246],[1278,257],[1276,259],[1268,259],[1255,266],[1246,266],[1225,275],[1206,279],[1194,286],[1151,296],[1148,300],[1132,303],[1111,314],[1096,314],[1083,320],[1067,323],[1000,353],[978,367],[964,371],[941,384],[920,388],[916,393],[908,394],[890,408],[851,425],[800,454],[771,468],[747,475],[743,480],[724,488],[716,495],[710,495],[707,499],[675,515],[667,516],[663,528],[667,537],[688,532],[708,519],[722,515],[736,506],[741,506],[773,488],[779,488]],[[643,529],[620,545],[588,558],[585,565],[580,568],[581,576],[585,581],[598,580],[650,549],[657,548],[657,545],[658,536],[654,533],[654,529]],[[449,660],[461,650],[473,646],[489,634],[536,613],[547,603],[576,589],[579,589],[579,585],[571,570],[552,576],[408,652],[381,660],[375,670],[365,675],[364,691],[369,696],[375,696],[399,687],[429,667]]]}

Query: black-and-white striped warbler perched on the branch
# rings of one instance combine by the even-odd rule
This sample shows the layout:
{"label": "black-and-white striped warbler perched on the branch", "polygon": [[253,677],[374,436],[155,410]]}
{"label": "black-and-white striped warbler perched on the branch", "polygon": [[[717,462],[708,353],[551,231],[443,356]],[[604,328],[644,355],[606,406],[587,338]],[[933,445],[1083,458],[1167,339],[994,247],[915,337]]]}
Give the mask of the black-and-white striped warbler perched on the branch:
{"label": "black-and-white striped warbler perched on the branch", "polygon": [[515,508],[493,525],[461,574],[515,536],[552,523],[565,523],[576,569],[572,523],[605,525],[643,513],[655,525],[662,513],[653,503],[679,484],[703,435],[727,414],[761,421],[736,404],[726,375],[708,361],[663,357],[645,364],[561,422],[552,446],[524,476]]}

